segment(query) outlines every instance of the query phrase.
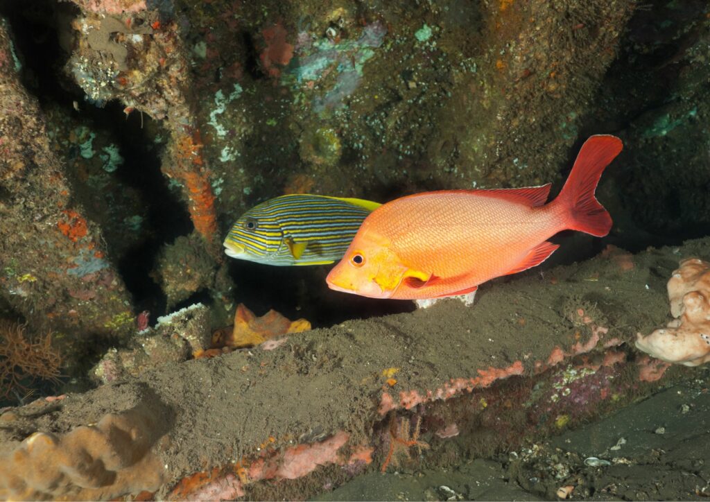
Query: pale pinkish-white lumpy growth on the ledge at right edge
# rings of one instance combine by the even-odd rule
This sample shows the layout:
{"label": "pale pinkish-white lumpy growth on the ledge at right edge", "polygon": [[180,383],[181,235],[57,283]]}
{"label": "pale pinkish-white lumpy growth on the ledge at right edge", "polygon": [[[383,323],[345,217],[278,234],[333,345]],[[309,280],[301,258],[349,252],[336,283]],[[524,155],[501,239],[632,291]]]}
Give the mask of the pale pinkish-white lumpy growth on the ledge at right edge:
{"label": "pale pinkish-white lumpy growth on the ledge at right edge", "polygon": [[668,281],[668,298],[674,320],[648,337],[639,333],[636,347],[684,366],[710,361],[710,263],[699,258],[681,261]]}

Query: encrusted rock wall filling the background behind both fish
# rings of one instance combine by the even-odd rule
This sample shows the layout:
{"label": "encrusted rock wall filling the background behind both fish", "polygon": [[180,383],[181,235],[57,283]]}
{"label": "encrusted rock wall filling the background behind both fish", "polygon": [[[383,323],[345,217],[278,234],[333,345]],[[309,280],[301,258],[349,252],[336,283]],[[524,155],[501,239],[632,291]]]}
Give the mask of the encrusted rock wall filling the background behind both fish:
{"label": "encrusted rock wall filling the background behind both fish", "polygon": [[599,190],[609,241],[704,234],[707,13],[702,1],[5,2],[0,307],[72,344],[125,341],[139,312],[197,300],[215,326],[249,301],[321,325],[403,310],[333,299],[322,270],[230,263],[224,234],[284,193],[384,202],[561,182],[592,133],[626,146]]}

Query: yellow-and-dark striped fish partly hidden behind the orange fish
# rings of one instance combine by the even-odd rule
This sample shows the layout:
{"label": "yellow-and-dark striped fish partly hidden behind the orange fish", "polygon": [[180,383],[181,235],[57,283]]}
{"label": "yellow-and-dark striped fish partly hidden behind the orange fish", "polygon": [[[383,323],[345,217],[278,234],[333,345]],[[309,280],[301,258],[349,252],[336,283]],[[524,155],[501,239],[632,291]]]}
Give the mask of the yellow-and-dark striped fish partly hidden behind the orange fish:
{"label": "yellow-and-dark striped fish partly hidden behind the orange fish", "polygon": [[325,195],[281,195],[249,209],[224,239],[232,258],[267,265],[325,265],[343,257],[381,204]]}

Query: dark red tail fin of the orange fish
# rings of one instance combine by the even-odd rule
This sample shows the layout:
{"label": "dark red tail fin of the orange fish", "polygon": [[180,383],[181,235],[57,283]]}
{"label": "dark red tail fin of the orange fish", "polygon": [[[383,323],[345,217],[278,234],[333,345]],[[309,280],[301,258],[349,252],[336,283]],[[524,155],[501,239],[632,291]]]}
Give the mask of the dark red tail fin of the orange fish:
{"label": "dark red tail fin of the orange fish", "polygon": [[603,237],[611,229],[611,216],[594,197],[604,168],[621,152],[616,136],[591,136],[584,142],[572,172],[555,203],[569,212],[566,228]]}

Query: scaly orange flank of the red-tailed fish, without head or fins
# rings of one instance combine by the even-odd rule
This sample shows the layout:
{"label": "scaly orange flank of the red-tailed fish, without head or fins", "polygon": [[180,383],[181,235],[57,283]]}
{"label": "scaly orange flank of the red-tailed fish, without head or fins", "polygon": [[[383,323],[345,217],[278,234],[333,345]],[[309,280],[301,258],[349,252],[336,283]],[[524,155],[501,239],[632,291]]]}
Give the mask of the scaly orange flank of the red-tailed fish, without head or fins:
{"label": "scaly orange flank of the red-tailed fish, without head or fins", "polygon": [[[385,235],[399,235],[393,240],[393,253],[406,256],[411,268],[447,278],[422,292],[424,298],[502,275],[501,269],[512,269],[530,251],[530,244],[521,240],[520,234],[542,242],[562,227],[554,206],[525,207],[475,192],[430,192],[425,197],[395,200],[383,209],[367,224],[378,227],[384,222],[381,227]],[[431,212],[435,216],[425,219]],[[405,216],[389,224],[395,221],[393,214]],[[427,224],[417,223],[422,220]],[[422,241],[431,244],[422,247]]]}

